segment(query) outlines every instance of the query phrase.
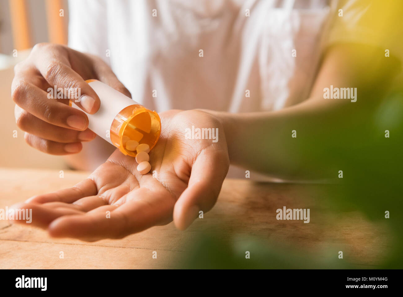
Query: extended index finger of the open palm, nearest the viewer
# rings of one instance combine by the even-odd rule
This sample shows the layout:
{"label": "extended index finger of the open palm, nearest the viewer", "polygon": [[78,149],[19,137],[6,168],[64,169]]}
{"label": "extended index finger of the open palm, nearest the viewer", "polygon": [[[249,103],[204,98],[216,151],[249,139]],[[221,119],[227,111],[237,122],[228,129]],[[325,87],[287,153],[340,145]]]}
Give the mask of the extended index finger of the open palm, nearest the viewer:
{"label": "extended index finger of the open palm, nearest the viewer", "polygon": [[72,237],[85,241],[123,238],[172,220],[173,199],[166,192],[139,188],[127,194],[122,205],[103,205],[85,215],[66,215],[48,228],[51,236]]}

